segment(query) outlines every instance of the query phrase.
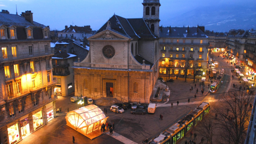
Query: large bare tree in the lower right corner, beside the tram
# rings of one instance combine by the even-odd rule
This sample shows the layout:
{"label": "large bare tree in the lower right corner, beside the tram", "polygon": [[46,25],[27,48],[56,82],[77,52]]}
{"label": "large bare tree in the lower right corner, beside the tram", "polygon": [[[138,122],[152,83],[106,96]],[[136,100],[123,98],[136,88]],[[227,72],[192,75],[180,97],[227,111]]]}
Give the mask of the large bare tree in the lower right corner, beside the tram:
{"label": "large bare tree in the lower right corner, beside the tram", "polygon": [[243,144],[250,120],[250,103],[253,102],[254,88],[246,83],[234,88],[223,96],[215,107],[218,114],[216,126],[222,130],[218,140],[220,144]]}

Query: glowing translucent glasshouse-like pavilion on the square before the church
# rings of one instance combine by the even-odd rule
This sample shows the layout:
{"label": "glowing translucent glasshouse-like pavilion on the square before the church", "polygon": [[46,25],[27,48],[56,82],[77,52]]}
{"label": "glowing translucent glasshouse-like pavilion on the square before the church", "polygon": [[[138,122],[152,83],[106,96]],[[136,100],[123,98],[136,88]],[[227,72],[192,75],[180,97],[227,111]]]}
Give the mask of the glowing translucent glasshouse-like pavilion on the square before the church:
{"label": "glowing translucent glasshouse-like pavilion on the square before the church", "polygon": [[96,105],[88,105],[70,111],[65,118],[69,127],[92,140],[103,134],[100,128],[108,117],[106,117],[104,112]]}

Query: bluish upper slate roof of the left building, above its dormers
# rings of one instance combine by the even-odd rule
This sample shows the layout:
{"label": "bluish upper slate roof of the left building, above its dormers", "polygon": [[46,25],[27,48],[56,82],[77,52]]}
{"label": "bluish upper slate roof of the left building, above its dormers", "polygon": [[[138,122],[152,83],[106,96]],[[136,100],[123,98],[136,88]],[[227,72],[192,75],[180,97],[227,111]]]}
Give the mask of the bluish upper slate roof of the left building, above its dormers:
{"label": "bluish upper slate roof of the left building, above its dormers", "polygon": [[32,26],[32,27],[45,27],[45,25],[33,21],[33,24],[25,20],[24,17],[16,14],[0,13],[0,25],[5,26]]}

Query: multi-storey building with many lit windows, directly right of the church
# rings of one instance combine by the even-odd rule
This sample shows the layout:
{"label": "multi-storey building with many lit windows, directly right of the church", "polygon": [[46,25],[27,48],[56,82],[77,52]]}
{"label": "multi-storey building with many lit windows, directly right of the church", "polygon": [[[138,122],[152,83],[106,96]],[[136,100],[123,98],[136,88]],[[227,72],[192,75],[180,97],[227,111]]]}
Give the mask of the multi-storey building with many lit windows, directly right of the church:
{"label": "multi-storey building with many lit windows, directly right of the church", "polygon": [[[202,29],[202,30],[201,30]],[[187,78],[206,73],[209,38],[204,27],[160,27],[159,76],[184,77],[186,61]],[[197,65],[193,68],[193,64]]]}

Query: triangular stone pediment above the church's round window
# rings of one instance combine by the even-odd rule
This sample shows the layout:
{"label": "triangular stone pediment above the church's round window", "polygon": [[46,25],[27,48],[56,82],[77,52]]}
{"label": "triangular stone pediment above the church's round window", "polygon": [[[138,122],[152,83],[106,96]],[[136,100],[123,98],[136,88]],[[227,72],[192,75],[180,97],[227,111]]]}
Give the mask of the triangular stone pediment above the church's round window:
{"label": "triangular stone pediment above the church's round window", "polygon": [[104,39],[104,40],[125,40],[125,39],[129,39],[128,37],[121,35],[119,33],[116,33],[114,31],[111,30],[104,30],[98,34],[95,34],[91,37],[88,38],[88,40],[100,40],[100,39]]}

